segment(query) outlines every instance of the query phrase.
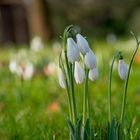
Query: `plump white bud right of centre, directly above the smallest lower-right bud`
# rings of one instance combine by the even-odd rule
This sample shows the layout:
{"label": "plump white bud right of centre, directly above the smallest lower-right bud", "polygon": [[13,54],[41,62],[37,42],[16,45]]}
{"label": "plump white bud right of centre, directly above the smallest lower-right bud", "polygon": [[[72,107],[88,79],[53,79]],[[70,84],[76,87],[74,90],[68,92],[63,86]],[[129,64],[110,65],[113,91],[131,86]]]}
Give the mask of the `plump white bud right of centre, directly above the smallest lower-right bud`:
{"label": "plump white bud right of centre, directly above the smallest lower-right bud", "polygon": [[91,50],[85,55],[85,65],[89,69],[93,69],[96,67],[96,56]]}

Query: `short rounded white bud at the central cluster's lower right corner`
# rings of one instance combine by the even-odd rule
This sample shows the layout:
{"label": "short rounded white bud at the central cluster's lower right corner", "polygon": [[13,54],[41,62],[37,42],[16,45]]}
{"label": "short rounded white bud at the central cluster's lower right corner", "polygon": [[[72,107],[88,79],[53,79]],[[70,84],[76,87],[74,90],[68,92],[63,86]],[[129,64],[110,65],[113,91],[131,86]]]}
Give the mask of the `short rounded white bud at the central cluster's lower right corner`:
{"label": "short rounded white bud at the central cluster's lower right corner", "polygon": [[97,80],[98,79],[98,69],[95,67],[95,68],[93,68],[93,69],[91,69],[91,70],[89,70],[89,75],[88,75],[88,77],[89,77],[89,79],[91,80],[91,81],[95,81],[95,80]]}

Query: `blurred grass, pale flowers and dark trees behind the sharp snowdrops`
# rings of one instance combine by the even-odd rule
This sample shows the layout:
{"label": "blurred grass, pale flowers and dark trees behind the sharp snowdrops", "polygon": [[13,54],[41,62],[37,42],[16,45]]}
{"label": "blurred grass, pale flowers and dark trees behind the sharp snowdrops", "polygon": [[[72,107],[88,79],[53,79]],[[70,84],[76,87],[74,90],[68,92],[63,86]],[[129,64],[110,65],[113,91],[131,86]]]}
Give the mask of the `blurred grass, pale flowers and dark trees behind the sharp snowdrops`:
{"label": "blurred grass, pale flowers and dark trees behind the sharp snowdrops", "polygon": [[[106,128],[109,63],[116,50],[130,61],[135,47],[130,31],[140,33],[140,0],[0,0],[0,140],[68,139],[67,95],[59,87],[57,67],[60,36],[70,24],[96,54],[99,80],[89,82],[92,125]],[[139,66],[140,52],[127,98],[126,120],[133,120],[134,134],[140,134]],[[119,117],[123,82],[117,63],[113,76],[113,114]],[[83,87],[75,90],[82,112]]]}

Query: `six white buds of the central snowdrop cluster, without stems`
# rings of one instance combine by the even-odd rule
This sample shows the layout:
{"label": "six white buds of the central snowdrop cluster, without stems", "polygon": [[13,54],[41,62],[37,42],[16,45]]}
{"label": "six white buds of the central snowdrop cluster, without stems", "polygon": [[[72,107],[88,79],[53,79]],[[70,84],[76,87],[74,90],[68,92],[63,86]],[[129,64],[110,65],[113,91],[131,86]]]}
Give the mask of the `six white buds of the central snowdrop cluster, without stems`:
{"label": "six white buds of the central snowdrop cluster, without stems", "polygon": [[[89,69],[88,77],[90,80],[95,81],[98,79],[98,69],[96,56],[94,52],[90,49],[87,40],[81,35],[76,35],[76,42],[73,38],[69,37],[67,39],[67,58],[71,64],[75,64],[74,67],[74,78],[77,84],[83,83],[85,79],[85,72],[80,63],[81,55],[84,58],[84,64],[87,69]],[[62,88],[65,86],[64,74],[59,68],[58,71],[59,83]],[[63,83],[63,84],[62,84]]]}

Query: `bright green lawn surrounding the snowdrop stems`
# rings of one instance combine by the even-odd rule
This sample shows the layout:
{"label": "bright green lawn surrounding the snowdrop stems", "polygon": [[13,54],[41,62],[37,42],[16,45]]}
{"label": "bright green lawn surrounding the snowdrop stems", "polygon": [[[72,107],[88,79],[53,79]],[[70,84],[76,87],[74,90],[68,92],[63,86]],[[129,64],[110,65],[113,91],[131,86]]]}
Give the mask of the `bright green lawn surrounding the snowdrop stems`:
{"label": "bright green lawn surrounding the snowdrop stems", "polygon": [[[107,92],[109,61],[115,50],[123,50],[126,61],[131,57],[133,41],[125,40],[109,45],[104,41],[93,42],[93,50],[97,56],[99,66],[99,80],[90,82],[92,126],[97,132],[97,140],[103,140],[101,132],[106,131],[108,119]],[[56,74],[46,77],[36,74],[31,81],[21,81],[8,70],[8,60],[15,49],[0,51],[0,140],[68,140],[66,119],[68,116],[67,96],[65,90],[58,85]],[[38,61],[48,59],[57,61],[58,53],[53,49],[34,55]],[[57,57],[54,57],[57,56]],[[37,62],[38,62],[37,61]],[[41,62],[40,62],[41,63]],[[119,79],[117,69],[113,72],[113,116],[119,119],[123,94],[123,82]],[[126,124],[131,120],[132,135],[140,128],[140,70],[134,62],[127,96]],[[76,101],[78,111],[82,113],[81,85],[76,87]],[[51,103],[56,102],[60,107],[57,112],[49,109]],[[79,113],[79,115],[81,115]]]}

